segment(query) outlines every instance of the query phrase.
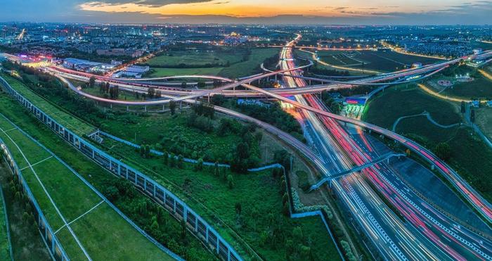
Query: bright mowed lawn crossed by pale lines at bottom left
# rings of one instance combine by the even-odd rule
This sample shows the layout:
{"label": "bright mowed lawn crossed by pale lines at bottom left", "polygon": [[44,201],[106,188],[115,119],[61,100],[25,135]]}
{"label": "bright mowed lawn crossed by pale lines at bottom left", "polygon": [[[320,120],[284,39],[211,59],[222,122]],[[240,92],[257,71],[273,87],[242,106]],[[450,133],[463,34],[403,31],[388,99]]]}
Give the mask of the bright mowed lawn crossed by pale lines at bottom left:
{"label": "bright mowed lawn crossed by pale lines at bottom left", "polygon": [[87,259],[82,248],[93,260],[171,260],[75,173],[15,129],[3,115],[0,138],[13,153],[48,223],[57,231],[56,236],[72,260]]}

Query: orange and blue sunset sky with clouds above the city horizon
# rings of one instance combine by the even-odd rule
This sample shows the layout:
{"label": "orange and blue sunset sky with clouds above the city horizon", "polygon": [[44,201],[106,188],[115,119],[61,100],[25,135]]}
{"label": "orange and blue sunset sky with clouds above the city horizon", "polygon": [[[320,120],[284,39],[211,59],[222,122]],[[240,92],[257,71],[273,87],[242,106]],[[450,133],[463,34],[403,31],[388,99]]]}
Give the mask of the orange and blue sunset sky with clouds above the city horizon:
{"label": "orange and blue sunset sky with clouds above the city horizon", "polygon": [[492,1],[0,0],[1,21],[490,24]]}

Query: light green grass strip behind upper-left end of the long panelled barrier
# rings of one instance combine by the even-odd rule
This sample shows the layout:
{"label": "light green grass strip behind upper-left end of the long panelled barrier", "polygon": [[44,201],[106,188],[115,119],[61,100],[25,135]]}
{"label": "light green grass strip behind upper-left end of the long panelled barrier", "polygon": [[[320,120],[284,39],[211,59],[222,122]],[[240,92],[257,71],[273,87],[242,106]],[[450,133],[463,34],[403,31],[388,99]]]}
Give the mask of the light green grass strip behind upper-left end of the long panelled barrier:
{"label": "light green grass strip behind upper-left end of the long panelled barrier", "polygon": [[63,111],[60,111],[60,108],[56,108],[53,104],[41,98],[39,95],[35,94],[32,90],[26,87],[24,84],[18,81],[18,79],[14,79],[11,76],[6,75],[5,73],[0,74],[1,77],[4,77],[6,81],[11,84],[11,87],[18,91],[22,96],[31,101],[32,104],[40,108],[47,113],[53,119],[55,119],[58,123],[65,125],[65,127],[70,128],[72,132],[75,134],[79,134],[80,136],[84,134],[90,134],[93,132],[95,127],[87,124],[86,122],[82,122],[81,120],[69,115]]}

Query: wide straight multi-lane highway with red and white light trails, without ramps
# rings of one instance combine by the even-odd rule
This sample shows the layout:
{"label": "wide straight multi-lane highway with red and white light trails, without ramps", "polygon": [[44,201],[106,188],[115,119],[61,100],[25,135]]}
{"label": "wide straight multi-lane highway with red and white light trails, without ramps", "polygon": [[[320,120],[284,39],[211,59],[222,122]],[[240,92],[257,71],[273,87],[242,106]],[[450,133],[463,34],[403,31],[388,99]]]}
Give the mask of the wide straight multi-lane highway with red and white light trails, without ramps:
{"label": "wide straight multi-lane highway with red and white light trails, without ramps", "polygon": [[[282,56],[289,57],[290,50],[284,49]],[[292,62],[287,61],[281,68],[292,66]],[[302,79],[292,77],[285,77],[285,82],[287,87],[302,87],[305,84]],[[316,97],[309,94],[297,95],[295,99],[302,105],[324,109]],[[311,110],[305,111],[304,115],[309,127],[317,134],[318,151],[335,168],[332,173],[351,169],[353,165],[364,165],[379,157],[366,141],[363,132],[360,132],[361,139],[357,142],[332,118],[318,117]],[[372,182],[396,206],[406,222],[391,213],[367,182]],[[491,258],[492,245],[489,241],[470,231],[456,231],[459,225],[416,196],[385,164],[377,164],[358,174],[335,180],[332,186],[374,245],[388,259]],[[476,246],[477,243],[481,243],[481,246]]]}

